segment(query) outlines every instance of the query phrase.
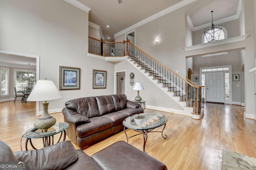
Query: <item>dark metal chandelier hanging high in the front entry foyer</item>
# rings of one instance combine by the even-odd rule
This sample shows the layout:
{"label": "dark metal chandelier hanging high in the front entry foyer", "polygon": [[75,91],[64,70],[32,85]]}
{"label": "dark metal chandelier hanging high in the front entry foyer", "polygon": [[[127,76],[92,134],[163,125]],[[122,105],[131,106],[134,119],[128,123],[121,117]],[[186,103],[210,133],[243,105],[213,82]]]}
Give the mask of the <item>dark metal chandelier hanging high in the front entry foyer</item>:
{"label": "dark metal chandelier hanging high in the front entry foyer", "polygon": [[[213,13],[213,11],[211,11]],[[222,25],[214,25],[212,21],[212,27],[207,27],[204,29],[204,35],[208,42],[218,41],[220,38]]]}

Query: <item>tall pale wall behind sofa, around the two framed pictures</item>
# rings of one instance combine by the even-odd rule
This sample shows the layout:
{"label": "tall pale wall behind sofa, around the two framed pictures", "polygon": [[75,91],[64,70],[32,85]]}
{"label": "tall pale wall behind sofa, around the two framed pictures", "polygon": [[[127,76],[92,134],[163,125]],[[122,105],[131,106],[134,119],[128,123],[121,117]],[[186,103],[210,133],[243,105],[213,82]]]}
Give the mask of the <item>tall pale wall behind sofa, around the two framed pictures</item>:
{"label": "tall pale wall behind sofa, around the two framed pictures", "polygon": [[[0,50],[40,56],[40,79],[59,86],[59,66],[81,68],[80,90],[50,101],[60,111],[70,99],[114,94],[114,64],[87,57],[88,13],[64,0],[1,0]],[[107,71],[107,88],[92,89],[93,69]],[[40,105],[40,110],[42,106]]]}

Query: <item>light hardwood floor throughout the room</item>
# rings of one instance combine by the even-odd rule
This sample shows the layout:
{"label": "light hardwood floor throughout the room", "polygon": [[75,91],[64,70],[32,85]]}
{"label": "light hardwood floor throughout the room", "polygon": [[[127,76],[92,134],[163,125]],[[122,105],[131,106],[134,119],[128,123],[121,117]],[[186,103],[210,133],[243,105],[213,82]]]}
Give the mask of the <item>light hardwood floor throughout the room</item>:
{"label": "light hardwood floor throughout the room", "polygon": [[[149,133],[146,152],[166,164],[169,170],[221,169],[222,149],[256,157],[256,121],[244,119],[244,107],[206,104],[201,120],[150,109],[145,112],[162,113],[168,117],[164,130],[168,138],[164,140],[161,133]],[[54,113],[52,116],[57,121],[64,121],[62,113]],[[34,103],[0,103],[0,140],[6,142],[12,150],[20,150],[20,133],[33,127],[36,119]],[[136,133],[130,129],[127,132],[129,136]],[[122,131],[90,146],[84,152],[92,155],[116,141],[125,140]],[[25,139],[21,143],[24,150]],[[38,148],[42,147],[42,139],[35,139],[33,143]],[[129,143],[143,150],[142,135],[130,138]]]}

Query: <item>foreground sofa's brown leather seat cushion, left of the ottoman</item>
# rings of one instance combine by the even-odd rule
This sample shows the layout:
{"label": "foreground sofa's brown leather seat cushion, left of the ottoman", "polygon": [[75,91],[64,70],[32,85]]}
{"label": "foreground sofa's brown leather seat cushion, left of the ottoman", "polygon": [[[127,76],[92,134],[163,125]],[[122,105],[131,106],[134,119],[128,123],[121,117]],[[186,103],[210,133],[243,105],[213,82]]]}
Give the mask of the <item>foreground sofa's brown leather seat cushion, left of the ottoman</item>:
{"label": "foreground sofa's brown leather seat cushion, left of the ottoman", "polygon": [[78,149],[76,150],[76,153],[78,155],[78,160],[66,168],[66,170],[102,170],[100,166],[98,166],[98,164],[82,150]]}

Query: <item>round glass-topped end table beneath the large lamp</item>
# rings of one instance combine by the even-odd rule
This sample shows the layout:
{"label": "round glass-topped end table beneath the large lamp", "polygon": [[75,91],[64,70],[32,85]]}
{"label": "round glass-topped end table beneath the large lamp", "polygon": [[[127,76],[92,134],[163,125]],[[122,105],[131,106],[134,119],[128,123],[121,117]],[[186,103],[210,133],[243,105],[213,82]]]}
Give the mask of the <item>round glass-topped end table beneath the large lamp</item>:
{"label": "round glass-topped end table beneath the large lamp", "polygon": [[[42,138],[43,139],[43,144],[44,147],[50,146],[54,144],[54,135],[61,133],[60,138],[57,141],[59,143],[62,133],[63,135],[63,141],[66,139],[66,129],[68,128],[68,123],[66,122],[56,122],[52,127],[49,129],[37,129],[34,130],[34,128],[28,129],[25,133],[21,133],[20,135],[22,136],[21,138],[26,138],[26,150],[28,150],[28,141],[30,142],[30,145],[32,146],[33,149],[36,149],[34,145],[32,144],[31,139],[33,138]],[[51,142],[52,141],[52,142]],[[37,150],[37,149],[36,149]]]}

